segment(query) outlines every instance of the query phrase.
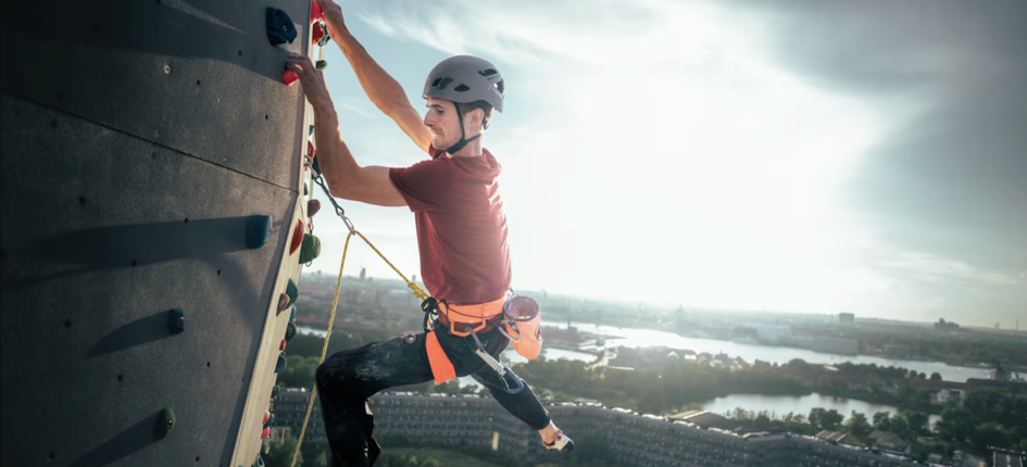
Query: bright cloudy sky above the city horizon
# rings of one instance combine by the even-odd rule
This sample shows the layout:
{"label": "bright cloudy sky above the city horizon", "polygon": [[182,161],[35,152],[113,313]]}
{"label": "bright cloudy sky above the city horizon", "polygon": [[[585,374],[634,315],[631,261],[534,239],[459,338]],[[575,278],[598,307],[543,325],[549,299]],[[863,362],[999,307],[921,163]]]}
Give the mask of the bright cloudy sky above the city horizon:
{"label": "bright cloudy sky above the city horizon", "polygon": [[[1027,328],[1027,2],[340,4],[418,110],[450,55],[503,74],[484,146],[514,289]],[[361,165],[426,157],[338,47],[326,60]],[[419,276],[408,209],[341,204]],[[330,213],[326,274],[346,237]],[[365,245],[347,263],[396,277]]]}

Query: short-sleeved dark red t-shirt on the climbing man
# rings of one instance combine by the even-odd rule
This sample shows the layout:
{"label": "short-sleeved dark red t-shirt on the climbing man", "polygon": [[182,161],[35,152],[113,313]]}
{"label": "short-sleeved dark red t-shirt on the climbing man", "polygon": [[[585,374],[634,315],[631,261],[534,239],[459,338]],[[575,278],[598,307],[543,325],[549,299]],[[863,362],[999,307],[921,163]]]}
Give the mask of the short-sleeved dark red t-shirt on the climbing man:
{"label": "short-sleeved dark red t-shirt on the climbing man", "polygon": [[389,169],[414,212],[424,285],[453,305],[498,300],[511,282],[506,215],[496,180],[502,167],[488,150],[450,157],[433,148],[431,157]]}

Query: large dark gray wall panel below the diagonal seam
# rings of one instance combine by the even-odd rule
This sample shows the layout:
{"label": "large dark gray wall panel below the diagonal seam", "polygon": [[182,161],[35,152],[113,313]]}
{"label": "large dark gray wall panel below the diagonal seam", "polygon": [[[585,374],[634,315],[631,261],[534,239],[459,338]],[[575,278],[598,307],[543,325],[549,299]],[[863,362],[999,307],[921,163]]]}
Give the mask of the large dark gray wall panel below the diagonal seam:
{"label": "large dark gray wall panel below the diagonal seam", "polygon": [[[3,464],[227,465],[296,193],[10,94],[0,109]],[[276,219],[260,250],[253,214]],[[164,406],[178,426],[154,441]]]}

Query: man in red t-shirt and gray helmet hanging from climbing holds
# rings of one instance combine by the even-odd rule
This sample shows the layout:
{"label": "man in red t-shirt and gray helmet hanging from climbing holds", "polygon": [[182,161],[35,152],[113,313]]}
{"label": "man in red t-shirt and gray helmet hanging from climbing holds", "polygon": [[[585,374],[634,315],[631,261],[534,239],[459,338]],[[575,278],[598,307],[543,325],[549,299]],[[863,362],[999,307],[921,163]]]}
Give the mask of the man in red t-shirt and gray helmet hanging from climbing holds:
{"label": "man in red t-shirt and gray helmet hanging from climbing holds", "polygon": [[519,303],[509,293],[506,217],[497,182],[501,167],[481,147],[492,111],[503,110],[502,75],[474,56],[442,61],[425,83],[428,112],[422,119],[399,83],[347,29],[339,5],[316,1],[364,91],[431,157],[405,168],[360,166],[342,140],[322,72],[309,58],[293,54],[286,66],[299,75],[314,109],[324,178],[333,197],[414,212],[422,278],[440,302],[430,332],[338,352],[317,368],[333,465],[371,466],[378,457],[368,397],[391,387],[467,375],[538,430],[546,447],[569,451],[574,443],[553,425],[530,387],[494,362],[510,343],[501,332],[504,305],[508,299]]}

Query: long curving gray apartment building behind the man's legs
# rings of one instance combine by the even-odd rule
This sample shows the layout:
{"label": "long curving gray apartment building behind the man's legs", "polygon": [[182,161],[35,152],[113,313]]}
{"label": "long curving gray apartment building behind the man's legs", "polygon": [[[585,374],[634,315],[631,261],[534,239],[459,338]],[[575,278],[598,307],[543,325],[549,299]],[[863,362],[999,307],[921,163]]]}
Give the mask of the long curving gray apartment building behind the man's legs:
{"label": "long curving gray apartment building behind the man's legs", "polygon": [[[381,393],[368,402],[375,436],[390,433],[439,443],[487,446],[535,463],[548,456],[538,432],[476,395]],[[572,437],[611,434],[606,459],[618,466],[661,467],[816,467],[922,466],[904,455],[874,452],[840,442],[787,432],[735,431],[727,418],[709,412],[673,417],[642,415],[598,403],[546,407]]]}

